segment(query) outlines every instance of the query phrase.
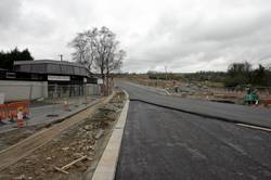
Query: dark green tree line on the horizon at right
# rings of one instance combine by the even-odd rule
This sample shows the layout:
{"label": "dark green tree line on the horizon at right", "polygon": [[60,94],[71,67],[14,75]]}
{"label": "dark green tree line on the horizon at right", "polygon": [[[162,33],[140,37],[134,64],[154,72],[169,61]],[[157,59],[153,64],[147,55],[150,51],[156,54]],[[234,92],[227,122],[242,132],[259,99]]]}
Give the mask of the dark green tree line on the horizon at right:
{"label": "dark green tree line on the horizon at right", "polygon": [[271,68],[259,64],[258,67],[253,68],[248,62],[232,63],[229,65],[227,72],[197,72],[197,73],[162,73],[147,72],[150,79],[162,80],[182,80],[188,82],[193,81],[209,81],[221,82],[228,88],[244,89],[247,86],[254,87],[270,87],[271,86]]}

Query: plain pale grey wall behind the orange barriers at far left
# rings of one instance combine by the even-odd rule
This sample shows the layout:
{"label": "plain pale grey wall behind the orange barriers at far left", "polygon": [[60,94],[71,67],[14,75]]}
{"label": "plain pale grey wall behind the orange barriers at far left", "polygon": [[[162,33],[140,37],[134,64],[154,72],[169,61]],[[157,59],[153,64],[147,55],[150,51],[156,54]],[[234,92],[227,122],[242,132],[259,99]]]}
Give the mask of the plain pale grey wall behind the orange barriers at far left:
{"label": "plain pale grey wall behind the orange barriers at far left", "polygon": [[0,93],[4,102],[48,98],[47,81],[0,80]]}

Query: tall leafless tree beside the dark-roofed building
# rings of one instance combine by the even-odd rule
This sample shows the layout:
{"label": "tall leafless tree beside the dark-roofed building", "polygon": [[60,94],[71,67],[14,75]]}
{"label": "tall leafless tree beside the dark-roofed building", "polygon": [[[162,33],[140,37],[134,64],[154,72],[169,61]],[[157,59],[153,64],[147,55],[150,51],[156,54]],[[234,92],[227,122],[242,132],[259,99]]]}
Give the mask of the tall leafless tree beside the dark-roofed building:
{"label": "tall leafless tree beside the dark-roofed building", "polygon": [[124,50],[119,50],[119,41],[116,35],[107,27],[101,29],[92,28],[78,34],[69,43],[75,49],[73,59],[83,65],[89,70],[101,73],[108,91],[108,79],[111,73],[119,69],[126,55]]}

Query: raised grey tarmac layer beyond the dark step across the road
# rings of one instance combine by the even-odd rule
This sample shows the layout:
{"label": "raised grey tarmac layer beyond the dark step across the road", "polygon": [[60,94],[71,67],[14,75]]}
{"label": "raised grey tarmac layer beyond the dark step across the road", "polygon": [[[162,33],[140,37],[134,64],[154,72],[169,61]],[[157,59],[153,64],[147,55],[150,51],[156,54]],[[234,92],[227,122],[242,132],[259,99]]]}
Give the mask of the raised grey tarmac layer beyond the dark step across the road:
{"label": "raised grey tarmac layer beyond the dark step across the road", "polygon": [[176,98],[166,95],[166,93],[163,93],[156,88],[149,88],[130,82],[119,82],[117,86],[129,93],[130,100],[143,101],[204,117],[271,128],[271,110],[207,100]]}

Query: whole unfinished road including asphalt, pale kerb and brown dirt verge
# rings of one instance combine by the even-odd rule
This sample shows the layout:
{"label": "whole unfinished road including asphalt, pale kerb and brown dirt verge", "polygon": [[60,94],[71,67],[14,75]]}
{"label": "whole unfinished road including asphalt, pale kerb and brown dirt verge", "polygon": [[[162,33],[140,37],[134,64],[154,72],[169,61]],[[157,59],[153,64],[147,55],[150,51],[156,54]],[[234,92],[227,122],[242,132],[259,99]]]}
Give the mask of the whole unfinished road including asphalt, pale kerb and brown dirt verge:
{"label": "whole unfinished road including asphalt, pale kerb and brown dirt verge", "polygon": [[124,81],[91,102],[36,130],[2,132],[2,144],[15,131],[25,137],[1,149],[0,178],[271,178],[268,108],[177,98]]}

